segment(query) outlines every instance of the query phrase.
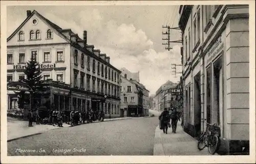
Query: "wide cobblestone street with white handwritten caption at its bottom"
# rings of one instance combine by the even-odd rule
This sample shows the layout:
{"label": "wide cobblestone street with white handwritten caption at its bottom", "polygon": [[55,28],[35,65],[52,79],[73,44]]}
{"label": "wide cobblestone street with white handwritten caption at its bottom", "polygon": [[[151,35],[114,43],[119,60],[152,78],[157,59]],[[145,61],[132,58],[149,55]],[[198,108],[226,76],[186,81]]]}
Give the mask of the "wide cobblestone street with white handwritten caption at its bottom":
{"label": "wide cobblestone street with white handwritten caption at its bottom", "polygon": [[8,142],[8,155],[153,155],[157,125],[153,117],[53,129]]}

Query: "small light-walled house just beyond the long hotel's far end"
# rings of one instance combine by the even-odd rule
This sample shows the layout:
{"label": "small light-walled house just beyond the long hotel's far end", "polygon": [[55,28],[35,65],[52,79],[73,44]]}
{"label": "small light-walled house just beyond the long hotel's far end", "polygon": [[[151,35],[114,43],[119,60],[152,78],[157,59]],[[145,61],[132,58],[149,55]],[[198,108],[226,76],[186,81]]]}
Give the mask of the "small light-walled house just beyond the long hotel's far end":
{"label": "small light-walled house just beyond the long hotel's far end", "polygon": [[147,116],[150,91],[138,82],[139,73],[131,73],[126,68],[121,68],[121,71],[121,116]]}

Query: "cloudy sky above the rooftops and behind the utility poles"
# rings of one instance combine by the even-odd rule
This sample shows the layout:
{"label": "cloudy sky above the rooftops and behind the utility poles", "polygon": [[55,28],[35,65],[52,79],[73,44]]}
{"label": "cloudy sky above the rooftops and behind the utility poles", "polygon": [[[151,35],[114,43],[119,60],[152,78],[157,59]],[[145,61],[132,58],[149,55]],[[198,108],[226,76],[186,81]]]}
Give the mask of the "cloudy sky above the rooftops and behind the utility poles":
{"label": "cloudy sky above the rooftops and behind the utility poles", "polygon": [[[150,94],[167,80],[179,80],[179,74],[172,75],[171,64],[181,63],[181,44],[171,44],[170,51],[162,45],[162,25],[178,26],[179,6],[11,6],[7,7],[7,36],[24,21],[27,10],[36,10],[81,38],[87,30],[88,44],[110,56],[115,67],[140,72],[140,82]],[[180,31],[171,31],[171,40],[180,37]]]}

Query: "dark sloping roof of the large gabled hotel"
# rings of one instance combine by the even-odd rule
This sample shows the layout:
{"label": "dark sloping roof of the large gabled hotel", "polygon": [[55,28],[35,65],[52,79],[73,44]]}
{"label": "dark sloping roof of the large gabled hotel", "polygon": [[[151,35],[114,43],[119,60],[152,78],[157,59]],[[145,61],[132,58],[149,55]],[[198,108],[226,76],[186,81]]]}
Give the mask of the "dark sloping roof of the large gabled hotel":
{"label": "dark sloping roof of the large gabled hotel", "polygon": [[[67,41],[69,41],[71,43],[72,46],[74,46],[76,49],[80,50],[81,52],[83,53],[87,53],[89,54],[90,56],[93,56],[95,58],[97,58],[99,61],[101,61],[102,63],[112,67],[113,69],[115,69],[115,71],[117,71],[118,73],[121,73],[121,71],[119,69],[117,69],[116,67],[114,67],[113,65],[111,65],[110,63],[104,61],[103,59],[101,59],[100,57],[98,57],[97,55],[95,55],[93,52],[90,52],[89,50],[87,49],[84,49],[82,48],[82,46],[80,46],[78,43],[76,42],[73,42],[71,40],[69,40],[65,35],[63,35],[61,32],[63,31],[71,31],[71,29],[61,29],[58,25],[54,24],[52,21],[50,21],[49,19],[47,19],[46,17],[42,16],[41,14],[39,14],[37,11],[33,10],[33,12],[30,14],[29,17],[27,17],[23,22],[22,24],[19,25],[19,27],[7,38],[7,41],[9,41],[13,35],[15,33],[17,33],[17,31],[23,27],[23,25],[34,15],[38,15],[38,17],[40,17],[42,20],[45,20],[47,22],[47,24],[49,24],[49,26],[51,26],[62,38],[66,39]],[[73,33],[73,32],[72,32]],[[73,33],[74,34],[74,33]],[[77,34],[75,34],[77,35]],[[78,35],[77,35],[78,36]],[[81,39],[79,36],[78,36],[78,39]]]}

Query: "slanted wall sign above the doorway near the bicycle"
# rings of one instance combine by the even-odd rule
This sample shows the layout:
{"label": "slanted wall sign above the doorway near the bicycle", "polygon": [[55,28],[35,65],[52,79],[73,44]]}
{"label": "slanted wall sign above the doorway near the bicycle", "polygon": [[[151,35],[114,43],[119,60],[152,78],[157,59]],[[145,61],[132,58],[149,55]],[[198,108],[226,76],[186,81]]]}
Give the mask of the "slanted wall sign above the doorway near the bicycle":
{"label": "slanted wall sign above the doorway near the bicycle", "polygon": [[214,45],[211,46],[210,50],[206,53],[206,65],[216,57],[224,48],[224,43],[221,39],[222,36],[220,36],[217,41],[214,43]]}

